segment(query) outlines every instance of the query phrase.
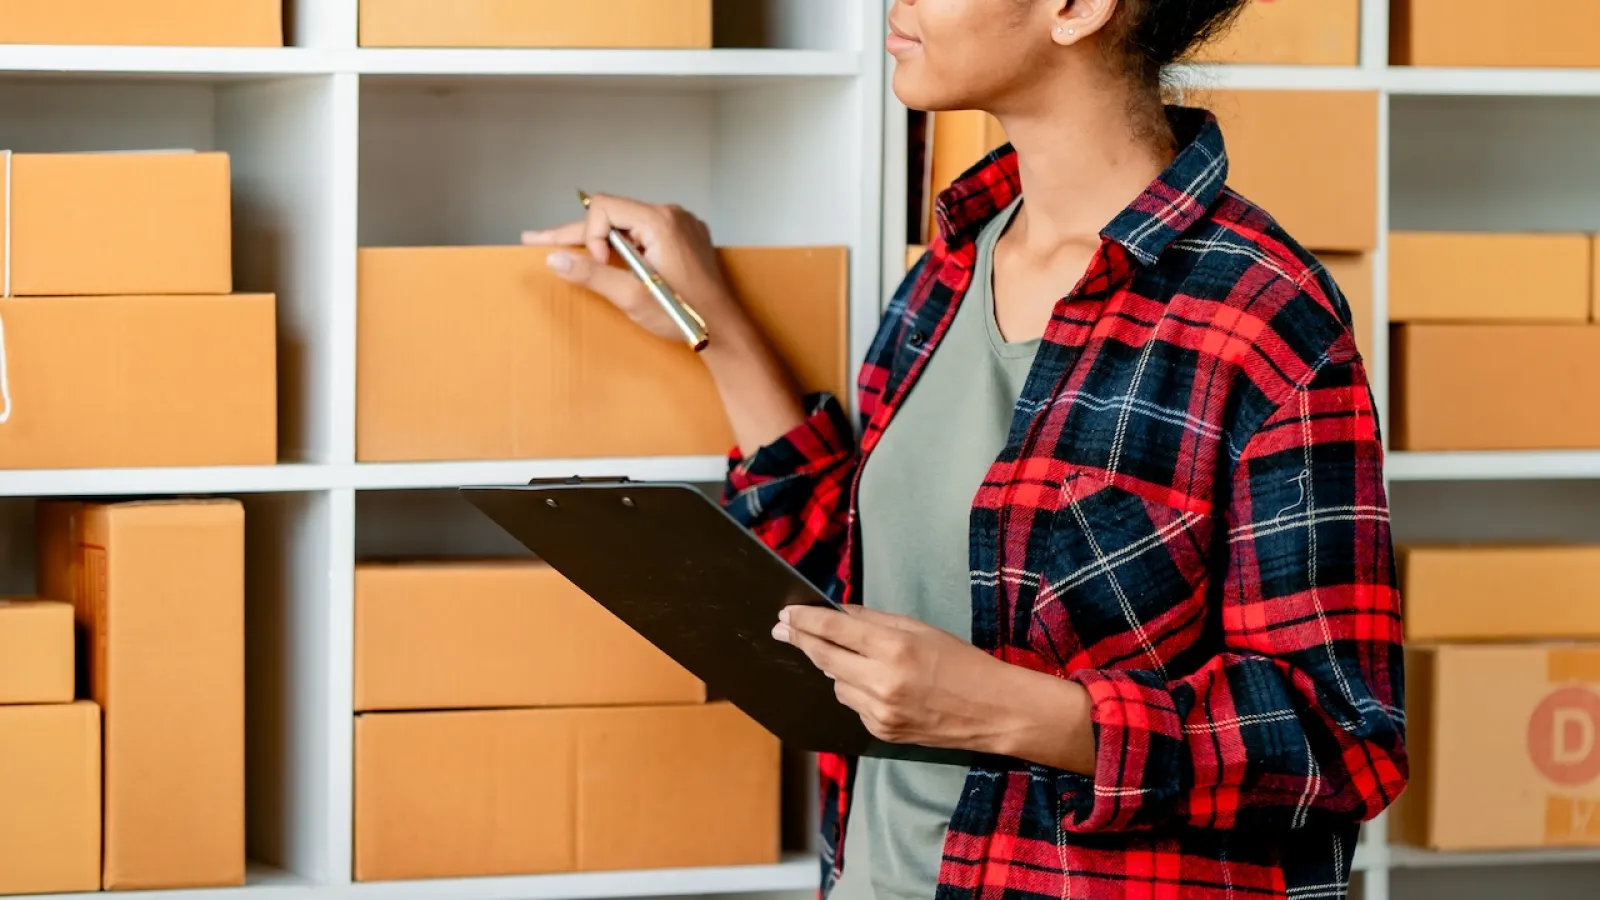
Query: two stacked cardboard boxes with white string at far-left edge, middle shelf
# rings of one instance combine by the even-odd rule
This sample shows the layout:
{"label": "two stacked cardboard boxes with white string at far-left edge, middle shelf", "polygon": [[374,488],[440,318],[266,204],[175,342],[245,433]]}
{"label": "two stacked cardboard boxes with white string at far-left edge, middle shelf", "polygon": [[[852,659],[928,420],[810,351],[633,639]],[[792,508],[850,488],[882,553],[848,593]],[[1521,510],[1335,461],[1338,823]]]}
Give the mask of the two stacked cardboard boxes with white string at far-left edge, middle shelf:
{"label": "two stacked cardboard boxes with white string at far-left edge, middle shelf", "polygon": [[227,155],[5,171],[0,468],[277,461],[274,298],[230,293]]}

